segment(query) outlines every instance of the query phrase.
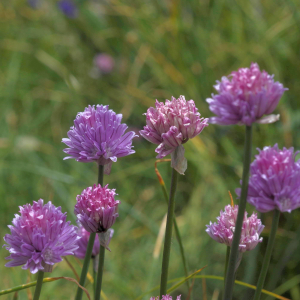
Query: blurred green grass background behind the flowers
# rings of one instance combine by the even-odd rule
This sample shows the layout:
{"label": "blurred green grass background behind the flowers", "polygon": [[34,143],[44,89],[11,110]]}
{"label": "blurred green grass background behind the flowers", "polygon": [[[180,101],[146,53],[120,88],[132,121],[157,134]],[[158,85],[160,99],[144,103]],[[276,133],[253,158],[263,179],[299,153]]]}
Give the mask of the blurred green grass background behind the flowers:
{"label": "blurred green grass background behind the flowers", "polygon": [[[61,143],[76,113],[89,104],[109,104],[131,130],[145,124],[155,99],[193,99],[203,117],[215,81],[258,62],[289,88],[276,113],[279,122],[255,125],[257,147],[278,143],[300,148],[300,3],[297,0],[85,0],[78,15],[64,15],[56,1],[0,2],[0,235],[9,232],[18,206],[43,198],[62,206],[73,223],[76,195],[97,180],[96,164],[63,161]],[[115,61],[109,74],[95,73],[94,56]],[[95,76],[95,74],[99,76]],[[235,198],[242,173],[244,128],[210,125],[187,144],[188,170],[180,176],[176,215],[190,272],[223,276],[226,247],[205,233]],[[111,253],[106,255],[103,291],[110,300],[135,299],[159,284],[159,229],[166,204],[154,172],[155,145],[136,138],[136,153],[113,164],[105,182],[121,200]],[[159,165],[169,186],[169,163]],[[249,213],[254,210],[248,206]],[[270,228],[272,214],[262,216]],[[299,288],[299,210],[282,214],[266,288],[293,300]],[[267,238],[246,253],[237,279],[255,284]],[[157,248],[159,250],[159,248]],[[0,250],[1,289],[34,280],[21,268],[5,268]],[[74,258],[69,258],[79,272]],[[65,261],[50,276],[74,277]],[[170,279],[184,275],[176,239]],[[91,285],[88,287],[91,291]],[[76,285],[45,284],[42,299],[72,299]],[[32,290],[31,290],[32,291]],[[193,299],[221,298],[222,282],[195,280]],[[187,288],[175,294],[186,299]],[[152,294],[156,296],[158,292]],[[235,299],[252,291],[236,287]],[[18,299],[31,299],[30,290]],[[149,299],[147,295],[144,299]],[[12,299],[13,295],[2,297]],[[271,299],[271,298],[268,298]]]}

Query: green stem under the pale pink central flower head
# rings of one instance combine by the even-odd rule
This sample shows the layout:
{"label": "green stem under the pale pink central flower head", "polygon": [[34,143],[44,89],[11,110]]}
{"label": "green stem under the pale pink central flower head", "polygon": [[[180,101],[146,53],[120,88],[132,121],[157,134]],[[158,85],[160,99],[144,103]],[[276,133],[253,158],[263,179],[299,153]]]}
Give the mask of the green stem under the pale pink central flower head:
{"label": "green stem under the pale pink central flower head", "polygon": [[167,283],[168,283],[168,269],[169,269],[169,259],[171,251],[171,240],[172,240],[172,227],[174,220],[174,209],[175,209],[175,192],[177,187],[177,177],[178,173],[173,168],[172,169],[172,180],[171,180],[171,190],[169,198],[169,207],[168,207],[168,217],[166,225],[166,234],[165,234],[165,244],[164,244],[164,253],[161,269],[161,281],[160,281],[160,299],[162,295],[167,293]]}

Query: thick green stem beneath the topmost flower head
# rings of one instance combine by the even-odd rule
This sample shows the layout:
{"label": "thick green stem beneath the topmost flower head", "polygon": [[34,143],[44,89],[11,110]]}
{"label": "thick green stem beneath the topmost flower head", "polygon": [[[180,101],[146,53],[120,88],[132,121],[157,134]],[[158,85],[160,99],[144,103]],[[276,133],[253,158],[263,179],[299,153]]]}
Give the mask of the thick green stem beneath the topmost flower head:
{"label": "thick green stem beneath the topmost flower head", "polygon": [[244,219],[246,203],[247,203],[247,195],[248,195],[249,169],[250,169],[250,162],[251,162],[251,145],[252,145],[252,127],[246,126],[242,191],[241,191],[241,198],[239,203],[238,216],[235,224],[233,241],[231,245],[230,257],[228,262],[228,269],[227,269],[225,290],[224,290],[224,297],[223,297],[224,300],[232,299],[232,292],[233,292],[234,279],[235,279],[235,268],[238,259],[238,254],[239,254],[239,243],[241,238],[241,231],[242,231],[242,225],[243,225],[243,219]]}

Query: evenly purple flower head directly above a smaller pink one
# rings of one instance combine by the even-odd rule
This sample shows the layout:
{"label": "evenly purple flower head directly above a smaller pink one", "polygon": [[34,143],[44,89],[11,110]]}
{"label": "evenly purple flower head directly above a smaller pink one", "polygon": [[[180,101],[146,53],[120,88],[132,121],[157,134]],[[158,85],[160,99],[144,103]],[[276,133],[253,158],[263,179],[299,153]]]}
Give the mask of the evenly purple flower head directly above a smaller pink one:
{"label": "evenly purple flower head directly above a smaller pink one", "polygon": [[[88,106],[77,114],[68,137],[62,139],[69,148],[64,152],[80,162],[95,161],[105,165],[109,174],[112,162],[118,157],[135,153],[132,150],[133,131],[125,133],[128,126],[121,124],[122,115],[108,109],[108,105]],[[125,133],[125,134],[124,134]]]}

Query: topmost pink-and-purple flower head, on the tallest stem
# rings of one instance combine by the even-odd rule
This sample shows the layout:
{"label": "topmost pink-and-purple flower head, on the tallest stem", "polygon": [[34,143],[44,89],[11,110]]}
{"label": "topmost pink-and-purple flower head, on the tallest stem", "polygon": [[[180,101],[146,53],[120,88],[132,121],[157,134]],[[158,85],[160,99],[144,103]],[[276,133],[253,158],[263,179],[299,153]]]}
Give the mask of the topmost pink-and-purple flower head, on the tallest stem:
{"label": "topmost pink-and-purple flower head, on the tallest stem", "polygon": [[[252,63],[250,68],[241,68],[228,77],[217,81],[214,88],[218,94],[206,100],[216,115],[210,118],[210,123],[250,126],[254,122],[273,123],[279,119],[279,115],[269,114],[287,89],[274,82],[273,76]],[[269,116],[262,118],[263,115]]]}

